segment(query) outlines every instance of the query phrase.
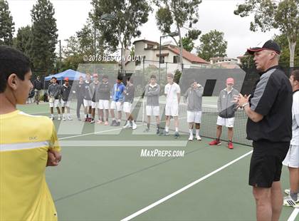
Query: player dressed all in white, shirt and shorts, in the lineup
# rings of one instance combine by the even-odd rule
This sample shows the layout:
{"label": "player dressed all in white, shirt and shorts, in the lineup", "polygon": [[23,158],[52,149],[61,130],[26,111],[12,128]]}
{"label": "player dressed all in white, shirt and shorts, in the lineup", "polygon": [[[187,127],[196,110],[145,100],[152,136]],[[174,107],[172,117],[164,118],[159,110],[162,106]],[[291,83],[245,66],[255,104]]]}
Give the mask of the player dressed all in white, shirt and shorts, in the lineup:
{"label": "player dressed all in white, shirt and shorts, in the lineup", "polygon": [[175,133],[174,138],[179,138],[179,99],[181,98],[181,88],[174,82],[174,75],[167,73],[167,85],[164,88],[166,96],[165,116],[166,125],[162,134],[169,135],[170,117],[174,118]]}

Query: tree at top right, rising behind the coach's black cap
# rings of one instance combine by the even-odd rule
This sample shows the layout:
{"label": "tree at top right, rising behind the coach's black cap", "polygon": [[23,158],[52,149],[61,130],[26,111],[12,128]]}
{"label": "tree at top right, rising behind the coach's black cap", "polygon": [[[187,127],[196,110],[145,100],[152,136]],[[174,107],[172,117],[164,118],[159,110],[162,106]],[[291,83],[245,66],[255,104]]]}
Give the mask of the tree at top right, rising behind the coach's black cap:
{"label": "tree at top right, rising behind the coach's black cap", "polygon": [[234,11],[234,14],[241,17],[251,13],[254,14],[254,21],[251,21],[250,24],[251,31],[279,29],[286,35],[290,51],[290,67],[293,67],[299,31],[299,1],[246,0]]}

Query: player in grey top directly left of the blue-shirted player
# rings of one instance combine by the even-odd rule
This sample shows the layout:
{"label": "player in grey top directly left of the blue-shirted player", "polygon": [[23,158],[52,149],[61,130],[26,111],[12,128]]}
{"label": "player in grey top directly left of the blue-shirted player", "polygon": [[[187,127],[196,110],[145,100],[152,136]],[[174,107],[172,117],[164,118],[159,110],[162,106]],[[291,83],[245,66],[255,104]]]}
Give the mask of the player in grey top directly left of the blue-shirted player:
{"label": "player in grey top directly left of the blue-shirted player", "polygon": [[100,121],[99,123],[104,122],[104,110],[105,110],[105,125],[109,125],[109,100],[110,100],[110,91],[111,86],[108,82],[108,76],[104,75],[102,83],[99,86],[99,109],[100,109]]}

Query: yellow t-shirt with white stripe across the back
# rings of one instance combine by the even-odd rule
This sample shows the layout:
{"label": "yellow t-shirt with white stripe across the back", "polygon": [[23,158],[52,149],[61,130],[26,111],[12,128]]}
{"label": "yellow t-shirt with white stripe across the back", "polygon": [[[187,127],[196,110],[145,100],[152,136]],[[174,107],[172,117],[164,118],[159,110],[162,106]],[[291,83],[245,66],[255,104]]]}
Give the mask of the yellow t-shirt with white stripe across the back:
{"label": "yellow t-shirt with white stripe across the back", "polygon": [[0,115],[0,220],[57,220],[46,184],[48,149],[60,151],[55,126],[21,111]]}

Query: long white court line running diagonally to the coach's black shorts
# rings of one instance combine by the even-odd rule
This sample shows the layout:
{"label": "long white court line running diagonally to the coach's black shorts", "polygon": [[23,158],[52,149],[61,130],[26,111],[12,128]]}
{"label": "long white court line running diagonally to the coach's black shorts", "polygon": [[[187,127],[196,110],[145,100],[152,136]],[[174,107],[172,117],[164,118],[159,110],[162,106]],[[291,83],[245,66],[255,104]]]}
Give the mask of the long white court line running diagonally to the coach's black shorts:
{"label": "long white court line running diagonally to the coach's black shorts", "polygon": [[232,165],[233,163],[236,163],[238,160],[241,160],[242,158],[245,158],[247,155],[250,155],[253,152],[253,150],[249,151],[248,153],[241,155],[241,157],[236,158],[235,160],[232,160],[229,163],[226,163],[226,165],[223,165],[221,168],[218,168],[217,170],[214,170],[213,172],[204,175],[202,178],[199,178],[198,180],[195,180],[193,183],[189,183],[188,185],[182,187],[181,189],[172,192],[172,194],[167,195],[166,197],[163,197],[161,200],[158,200],[154,203],[152,203],[151,205],[148,205],[147,207],[144,207],[141,210],[138,210],[137,212],[134,212],[132,215],[129,215],[128,217],[123,218],[120,221],[128,221],[128,220],[132,220],[132,218],[137,217],[138,215],[142,214],[143,212],[146,212],[147,210],[152,209],[153,207],[161,204],[162,202],[165,202],[166,200],[169,200],[170,198],[174,197],[175,195],[178,195],[179,193],[183,192],[184,190],[189,189],[190,187],[196,185],[197,183],[206,180],[207,178],[209,178],[211,175],[214,175],[215,173],[218,173],[219,171],[223,170],[224,168],[227,168],[229,165]]}

